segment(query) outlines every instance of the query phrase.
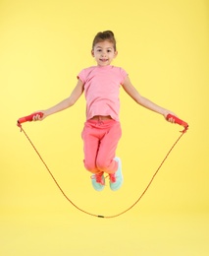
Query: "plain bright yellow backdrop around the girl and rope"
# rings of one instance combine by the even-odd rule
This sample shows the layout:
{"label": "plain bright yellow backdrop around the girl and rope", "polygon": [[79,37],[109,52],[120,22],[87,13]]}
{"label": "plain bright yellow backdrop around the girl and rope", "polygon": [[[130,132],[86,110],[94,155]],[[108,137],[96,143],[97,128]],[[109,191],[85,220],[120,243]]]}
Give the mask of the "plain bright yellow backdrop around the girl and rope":
{"label": "plain bright yellow backdrop around the girl and rope", "polygon": [[[142,200],[98,219],[63,197],[16,126],[70,95],[95,62],[96,32],[112,30],[122,66],[143,96],[176,112],[188,132]],[[0,254],[209,255],[209,4],[207,0],[0,1]],[[24,128],[65,193],[96,215],[124,211],[141,194],[182,127],[121,92],[125,183],[96,193],[82,165],[84,97]]]}

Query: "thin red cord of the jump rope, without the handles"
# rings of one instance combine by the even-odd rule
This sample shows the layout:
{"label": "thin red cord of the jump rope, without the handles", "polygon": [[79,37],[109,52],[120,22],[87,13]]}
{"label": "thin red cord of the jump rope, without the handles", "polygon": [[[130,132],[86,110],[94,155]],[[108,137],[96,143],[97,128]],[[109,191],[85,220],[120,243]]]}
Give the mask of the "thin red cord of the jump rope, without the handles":
{"label": "thin red cord of the jump rope, without the handles", "polygon": [[186,130],[183,131],[183,133],[181,134],[181,136],[177,139],[177,141],[173,144],[173,146],[171,147],[171,149],[169,150],[169,152],[167,153],[166,157],[164,158],[164,160],[161,161],[159,167],[157,168],[157,170],[155,171],[154,175],[152,176],[151,180],[149,181],[148,185],[145,187],[145,189],[143,190],[143,192],[141,193],[141,195],[138,197],[138,199],[131,205],[131,207],[129,207],[127,210],[116,214],[116,215],[112,215],[112,216],[102,216],[102,215],[96,215],[96,214],[92,214],[92,213],[88,213],[84,210],[82,210],[81,208],[79,208],[63,191],[63,189],[61,188],[61,186],[59,185],[59,183],[57,182],[57,180],[55,179],[55,177],[53,176],[52,172],[50,171],[49,167],[47,166],[46,162],[42,159],[42,157],[40,156],[39,152],[37,151],[37,149],[35,148],[35,146],[33,145],[33,143],[31,142],[31,140],[29,139],[29,137],[26,134],[26,131],[23,129],[21,123],[18,123],[18,126],[21,128],[21,131],[24,132],[24,134],[26,135],[26,139],[29,141],[30,145],[32,146],[32,148],[34,149],[34,151],[36,152],[36,154],[38,155],[39,159],[43,162],[43,164],[45,165],[46,169],[48,170],[49,174],[51,175],[52,179],[54,180],[55,184],[57,185],[57,187],[59,188],[59,190],[61,191],[61,193],[63,194],[63,196],[76,208],[78,209],[78,211],[92,216],[92,217],[97,217],[97,218],[106,218],[106,219],[112,219],[112,218],[116,218],[119,217],[121,215],[124,215],[125,213],[129,212],[139,201],[140,199],[144,196],[144,194],[146,193],[146,191],[148,190],[148,188],[150,187],[151,183],[153,182],[155,176],[157,175],[158,171],[160,170],[160,168],[162,167],[163,163],[165,162],[165,160],[167,160],[167,158],[169,157],[169,155],[171,154],[171,152],[173,151],[174,147],[177,145],[177,143],[180,141],[180,139],[183,137],[183,134],[185,133]]}

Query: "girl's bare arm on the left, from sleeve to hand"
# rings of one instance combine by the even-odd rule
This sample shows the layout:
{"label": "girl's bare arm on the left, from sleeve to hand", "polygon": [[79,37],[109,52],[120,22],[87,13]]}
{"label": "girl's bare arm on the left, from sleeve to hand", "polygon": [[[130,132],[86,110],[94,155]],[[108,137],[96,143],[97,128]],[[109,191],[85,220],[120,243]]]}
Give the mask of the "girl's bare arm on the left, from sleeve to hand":
{"label": "girl's bare arm on the left, from sleeve to hand", "polygon": [[81,80],[78,79],[78,84],[75,87],[74,91],[72,92],[71,96],[67,97],[66,99],[62,100],[58,104],[56,104],[46,110],[39,111],[39,112],[43,113],[43,116],[41,117],[39,115],[35,115],[33,117],[33,121],[43,120],[48,115],[57,113],[59,111],[62,111],[64,109],[74,105],[76,103],[76,101],[78,100],[78,97],[81,96],[82,93],[83,93],[83,83],[81,82]]}

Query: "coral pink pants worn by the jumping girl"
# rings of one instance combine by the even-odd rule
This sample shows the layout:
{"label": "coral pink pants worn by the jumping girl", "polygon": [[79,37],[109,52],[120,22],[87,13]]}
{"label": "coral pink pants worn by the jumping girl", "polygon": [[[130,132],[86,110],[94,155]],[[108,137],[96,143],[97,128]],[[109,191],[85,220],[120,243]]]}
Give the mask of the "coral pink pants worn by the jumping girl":
{"label": "coral pink pants worn by the jumping girl", "polygon": [[85,168],[92,173],[114,173],[118,168],[114,158],[121,136],[120,122],[113,119],[86,121],[81,133]]}

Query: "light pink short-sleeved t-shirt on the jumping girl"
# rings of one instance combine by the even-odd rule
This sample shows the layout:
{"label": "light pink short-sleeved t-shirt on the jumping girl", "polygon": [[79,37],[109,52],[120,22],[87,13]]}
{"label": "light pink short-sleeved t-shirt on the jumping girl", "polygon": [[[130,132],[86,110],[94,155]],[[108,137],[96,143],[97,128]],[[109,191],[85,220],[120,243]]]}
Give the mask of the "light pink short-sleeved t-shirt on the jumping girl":
{"label": "light pink short-sleeved t-shirt on the jumping girl", "polygon": [[124,69],[114,66],[93,66],[81,70],[78,79],[84,85],[87,120],[94,115],[110,115],[119,121],[119,89],[126,77]]}

